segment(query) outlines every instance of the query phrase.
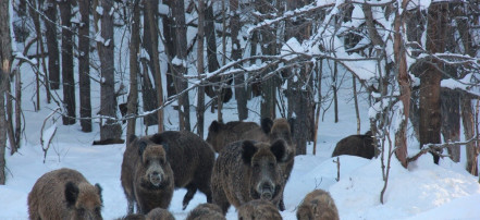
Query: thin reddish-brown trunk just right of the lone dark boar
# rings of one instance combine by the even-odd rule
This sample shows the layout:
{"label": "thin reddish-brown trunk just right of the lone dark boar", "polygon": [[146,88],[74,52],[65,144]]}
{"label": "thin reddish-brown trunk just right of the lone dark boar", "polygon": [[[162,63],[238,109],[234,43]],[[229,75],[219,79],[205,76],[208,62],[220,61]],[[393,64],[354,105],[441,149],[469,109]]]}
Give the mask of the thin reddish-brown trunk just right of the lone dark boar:
{"label": "thin reddish-brown trunk just right of the lone dark boar", "polygon": [[[407,1],[403,1],[402,9],[406,9]],[[402,37],[404,30],[402,29],[402,26],[404,26],[403,23],[403,15],[396,13],[395,14],[395,21],[394,21],[394,56],[395,56],[395,65],[398,66],[398,85],[401,90],[401,101],[402,101],[402,121],[399,123],[398,130],[395,132],[395,147],[397,148],[395,150],[396,158],[401,161],[402,166],[404,168],[407,168],[408,166],[408,148],[407,148],[407,125],[408,125],[408,114],[410,110],[410,97],[411,97],[411,90],[410,90],[410,77],[408,75],[408,69],[407,69],[407,57],[405,48],[403,47],[404,38]],[[423,82],[423,81],[422,81]],[[440,82],[439,82],[440,87]]]}

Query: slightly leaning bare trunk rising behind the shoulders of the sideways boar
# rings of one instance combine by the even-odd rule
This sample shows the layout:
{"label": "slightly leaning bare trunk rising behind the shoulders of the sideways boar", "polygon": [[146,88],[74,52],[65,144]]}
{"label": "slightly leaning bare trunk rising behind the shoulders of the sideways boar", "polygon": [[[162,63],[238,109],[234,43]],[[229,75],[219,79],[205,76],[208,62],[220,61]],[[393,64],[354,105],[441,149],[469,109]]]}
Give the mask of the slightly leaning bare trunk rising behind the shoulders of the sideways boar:
{"label": "slightly leaning bare trunk rising behind the shoulders of the sideways boar", "polygon": [[[146,1],[146,11],[149,24],[149,35],[151,41],[151,62],[153,63],[153,80],[155,87],[157,90],[157,107],[163,105],[163,86],[162,86],[162,75],[160,72],[160,59],[158,56],[158,1]],[[163,109],[157,111],[157,124],[158,132],[163,132]]]}

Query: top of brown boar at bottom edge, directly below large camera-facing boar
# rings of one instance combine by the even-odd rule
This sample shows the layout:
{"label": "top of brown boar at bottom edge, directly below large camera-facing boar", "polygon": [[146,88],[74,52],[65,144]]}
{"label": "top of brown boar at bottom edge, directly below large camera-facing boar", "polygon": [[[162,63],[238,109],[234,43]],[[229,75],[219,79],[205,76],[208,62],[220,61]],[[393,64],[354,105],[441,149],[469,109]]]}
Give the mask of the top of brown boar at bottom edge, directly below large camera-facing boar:
{"label": "top of brown boar at bottom edge, directly below large camera-facing boar", "polygon": [[238,220],[282,220],[282,216],[272,203],[255,199],[238,208]]}

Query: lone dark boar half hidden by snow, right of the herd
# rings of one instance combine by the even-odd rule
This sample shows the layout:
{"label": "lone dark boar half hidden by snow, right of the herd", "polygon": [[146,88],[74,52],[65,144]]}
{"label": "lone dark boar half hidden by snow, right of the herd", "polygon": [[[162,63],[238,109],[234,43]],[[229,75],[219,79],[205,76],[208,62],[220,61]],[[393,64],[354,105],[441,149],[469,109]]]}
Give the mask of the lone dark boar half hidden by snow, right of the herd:
{"label": "lone dark boar half hidden by snow, right of the herd", "polygon": [[332,157],[340,155],[352,155],[367,159],[371,159],[376,156],[376,147],[373,146],[373,137],[370,131],[365,135],[350,135],[339,143],[333,150]]}

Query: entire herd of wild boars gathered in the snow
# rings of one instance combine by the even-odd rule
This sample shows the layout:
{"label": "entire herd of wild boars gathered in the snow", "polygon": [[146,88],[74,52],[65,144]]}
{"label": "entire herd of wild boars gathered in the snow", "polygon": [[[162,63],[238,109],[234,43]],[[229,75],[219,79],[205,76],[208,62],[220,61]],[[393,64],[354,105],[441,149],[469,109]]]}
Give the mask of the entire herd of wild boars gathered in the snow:
{"label": "entire herd of wild boars gathered in the snow", "polygon": [[[174,219],[168,208],[175,188],[187,191],[183,209],[197,191],[207,197],[207,203],[193,209],[187,220],[223,220],[232,205],[241,220],[282,219],[283,194],[296,149],[292,131],[290,121],[266,118],[260,125],[213,121],[206,140],[187,131],[130,136],[120,178],[127,213],[119,219]],[[371,159],[376,154],[372,143],[371,132],[348,136],[339,142],[332,157]],[[72,169],[39,178],[27,203],[32,220],[102,219],[100,185],[90,184]],[[316,190],[297,207],[297,219],[336,220],[339,211],[328,192]]]}

